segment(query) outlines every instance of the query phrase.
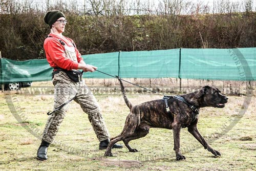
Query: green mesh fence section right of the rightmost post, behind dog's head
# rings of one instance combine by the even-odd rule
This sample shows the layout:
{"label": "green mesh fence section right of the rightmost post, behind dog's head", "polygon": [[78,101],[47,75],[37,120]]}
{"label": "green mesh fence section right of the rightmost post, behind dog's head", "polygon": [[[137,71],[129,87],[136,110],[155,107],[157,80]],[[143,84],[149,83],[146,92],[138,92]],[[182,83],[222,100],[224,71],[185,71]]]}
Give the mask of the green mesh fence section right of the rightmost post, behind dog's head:
{"label": "green mesh fence section right of the rightmost post, behind dog's head", "polygon": [[256,48],[182,49],[181,78],[255,80]]}

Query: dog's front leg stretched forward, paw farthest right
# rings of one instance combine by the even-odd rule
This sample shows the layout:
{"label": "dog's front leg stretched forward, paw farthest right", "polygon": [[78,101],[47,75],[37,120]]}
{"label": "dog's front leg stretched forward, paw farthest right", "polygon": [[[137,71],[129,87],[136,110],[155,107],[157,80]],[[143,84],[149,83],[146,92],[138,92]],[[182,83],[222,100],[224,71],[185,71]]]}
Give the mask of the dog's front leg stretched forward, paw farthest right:
{"label": "dog's front leg stretched forward, paw farthest right", "polygon": [[207,149],[209,152],[214,154],[215,156],[221,156],[221,153],[218,152],[217,150],[211,148],[209,144],[205,141],[205,139],[201,136],[197,129],[197,125],[189,125],[188,127],[188,132],[192,134],[203,146],[204,149]]}

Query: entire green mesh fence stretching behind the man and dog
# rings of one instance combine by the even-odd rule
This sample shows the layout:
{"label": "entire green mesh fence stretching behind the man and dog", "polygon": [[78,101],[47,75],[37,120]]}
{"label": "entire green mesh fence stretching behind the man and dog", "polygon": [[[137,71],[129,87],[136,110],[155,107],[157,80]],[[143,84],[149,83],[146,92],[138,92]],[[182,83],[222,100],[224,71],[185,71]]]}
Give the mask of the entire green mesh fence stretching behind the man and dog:
{"label": "entire green mesh fence stretching behind the man and dog", "polygon": [[[82,55],[99,71],[121,78],[189,78],[253,81],[256,79],[256,48],[171,49]],[[51,80],[46,59],[1,59],[1,82]],[[100,72],[86,78],[111,78]]]}

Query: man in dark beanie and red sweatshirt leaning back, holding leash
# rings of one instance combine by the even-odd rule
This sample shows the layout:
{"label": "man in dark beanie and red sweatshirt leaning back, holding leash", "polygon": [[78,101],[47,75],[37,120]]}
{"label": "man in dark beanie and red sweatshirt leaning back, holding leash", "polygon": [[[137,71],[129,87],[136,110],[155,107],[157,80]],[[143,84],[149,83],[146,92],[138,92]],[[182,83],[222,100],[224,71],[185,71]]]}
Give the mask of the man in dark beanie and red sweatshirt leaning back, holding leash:
{"label": "man in dark beanie and red sweatshirt leaning back, holding leash", "polygon": [[[100,109],[92,93],[85,93],[88,87],[80,80],[73,80],[72,74],[83,70],[83,72],[94,72],[97,67],[88,65],[83,61],[81,54],[76,49],[74,41],[62,35],[65,31],[67,20],[60,11],[49,11],[44,17],[45,23],[50,26],[51,32],[44,42],[44,49],[47,61],[53,67],[54,84],[54,112],[49,115],[42,134],[42,142],[37,151],[39,160],[47,159],[48,146],[59,129],[60,123],[68,110],[68,102],[74,98],[80,104],[82,110],[88,114],[94,132],[100,141],[99,149],[106,149],[110,140],[110,134],[100,113]],[[71,76],[68,71],[71,71]],[[79,75],[81,77],[81,74]],[[75,77],[77,77],[75,75]],[[78,77],[77,77],[78,78]],[[66,105],[63,105],[67,103]],[[61,106],[63,105],[63,106]],[[61,108],[60,108],[61,106]],[[115,144],[114,148],[122,148],[122,145]]]}

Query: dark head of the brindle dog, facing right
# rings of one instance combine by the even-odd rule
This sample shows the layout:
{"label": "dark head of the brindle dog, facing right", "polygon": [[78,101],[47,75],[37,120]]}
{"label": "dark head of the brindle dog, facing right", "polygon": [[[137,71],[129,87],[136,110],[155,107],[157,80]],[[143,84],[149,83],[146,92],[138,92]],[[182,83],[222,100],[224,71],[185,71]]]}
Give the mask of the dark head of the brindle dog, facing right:
{"label": "dark head of the brindle dog, facing right", "polygon": [[205,106],[224,108],[228,100],[228,97],[221,94],[221,91],[215,87],[204,86],[200,93],[202,93],[202,103]]}

